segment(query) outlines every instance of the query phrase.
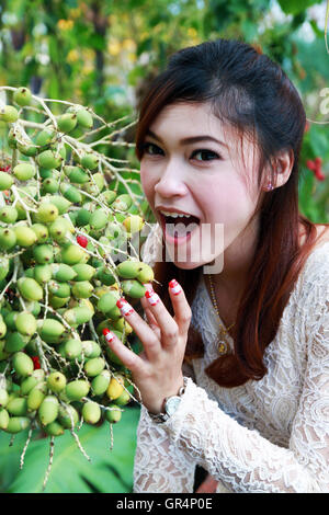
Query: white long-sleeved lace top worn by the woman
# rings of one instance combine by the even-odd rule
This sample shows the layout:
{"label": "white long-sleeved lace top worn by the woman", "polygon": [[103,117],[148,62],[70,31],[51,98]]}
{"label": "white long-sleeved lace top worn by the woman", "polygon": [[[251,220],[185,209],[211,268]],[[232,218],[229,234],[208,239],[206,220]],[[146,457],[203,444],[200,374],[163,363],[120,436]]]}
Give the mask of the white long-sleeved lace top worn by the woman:
{"label": "white long-sleeved lace top worn by the woman", "polygon": [[219,481],[218,493],[329,492],[329,242],[299,274],[260,381],[223,388],[206,376],[218,357],[218,317],[203,277],[191,308],[205,354],[167,422],[141,407],[134,492],[193,492],[196,464]]}

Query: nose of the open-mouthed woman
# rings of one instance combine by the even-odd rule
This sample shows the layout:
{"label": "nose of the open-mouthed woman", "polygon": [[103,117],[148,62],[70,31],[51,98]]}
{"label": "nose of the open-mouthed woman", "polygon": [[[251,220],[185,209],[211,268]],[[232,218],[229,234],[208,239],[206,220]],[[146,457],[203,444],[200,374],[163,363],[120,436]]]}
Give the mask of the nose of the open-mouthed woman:
{"label": "nose of the open-mouthed woman", "polygon": [[155,185],[155,192],[159,197],[169,198],[172,196],[184,196],[188,186],[184,182],[182,164],[170,161],[161,169],[159,181]]}

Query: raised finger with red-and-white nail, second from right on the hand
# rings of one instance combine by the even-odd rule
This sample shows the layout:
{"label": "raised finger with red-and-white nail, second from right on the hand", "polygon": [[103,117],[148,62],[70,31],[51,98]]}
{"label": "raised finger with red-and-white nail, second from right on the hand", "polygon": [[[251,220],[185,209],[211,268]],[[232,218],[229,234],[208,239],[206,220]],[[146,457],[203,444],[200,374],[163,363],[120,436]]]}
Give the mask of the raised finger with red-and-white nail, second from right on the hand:
{"label": "raised finger with red-and-white nail, second from right on the hand", "polygon": [[162,347],[171,347],[178,343],[179,331],[178,324],[167,310],[160,297],[154,290],[147,290],[145,294],[160,331]]}

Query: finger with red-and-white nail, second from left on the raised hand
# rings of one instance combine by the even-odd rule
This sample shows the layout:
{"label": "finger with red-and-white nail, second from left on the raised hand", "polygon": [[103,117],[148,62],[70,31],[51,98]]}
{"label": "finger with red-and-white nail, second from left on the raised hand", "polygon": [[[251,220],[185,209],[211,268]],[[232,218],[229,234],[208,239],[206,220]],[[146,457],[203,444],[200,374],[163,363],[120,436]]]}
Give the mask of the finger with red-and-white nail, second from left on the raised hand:
{"label": "finger with red-and-white nail, second from left on the raised hand", "polygon": [[132,325],[133,330],[143,343],[144,351],[149,360],[154,362],[158,358],[161,352],[161,342],[155,331],[143,320],[143,318],[135,311],[135,309],[121,298],[117,300],[116,306],[121,310],[121,314]]}

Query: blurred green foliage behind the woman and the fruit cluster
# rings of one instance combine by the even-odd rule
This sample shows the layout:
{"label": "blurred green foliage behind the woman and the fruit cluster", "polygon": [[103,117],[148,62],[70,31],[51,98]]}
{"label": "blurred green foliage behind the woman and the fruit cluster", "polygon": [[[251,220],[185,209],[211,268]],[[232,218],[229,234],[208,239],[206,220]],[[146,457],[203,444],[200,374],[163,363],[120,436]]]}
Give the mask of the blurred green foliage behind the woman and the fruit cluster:
{"label": "blurred green foliage behind the woman and the fruit cluster", "polygon": [[[279,62],[300,93],[308,118],[300,211],[329,222],[326,9],[326,0],[1,0],[0,85],[26,85],[43,98],[91,106],[107,122],[134,119],[147,84],[172,53],[205,39],[242,37]],[[134,142],[134,136],[132,126],[125,139]],[[128,152],[139,168],[134,148]],[[132,492],[138,416],[139,407],[129,404],[114,426],[113,450],[109,426],[82,427],[91,465],[70,435],[58,438],[45,492]],[[26,437],[9,445],[9,435],[0,434],[0,492],[42,490],[49,442],[33,437],[20,470]]]}

